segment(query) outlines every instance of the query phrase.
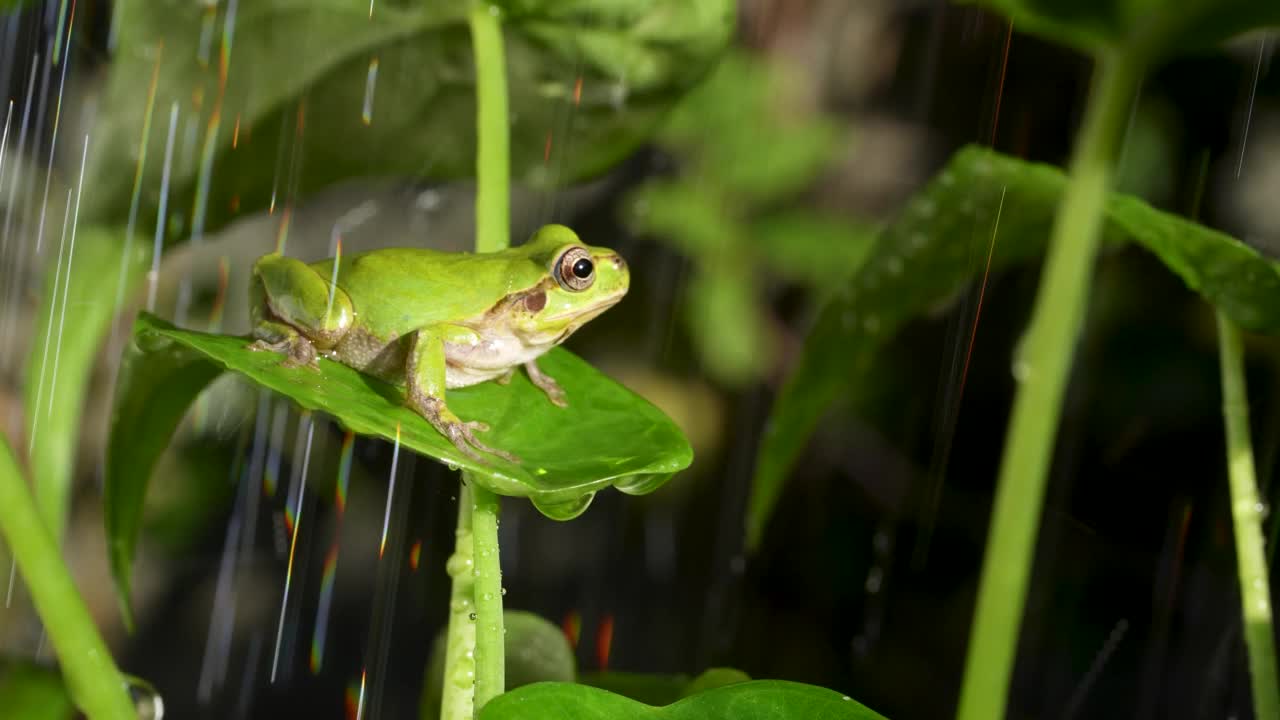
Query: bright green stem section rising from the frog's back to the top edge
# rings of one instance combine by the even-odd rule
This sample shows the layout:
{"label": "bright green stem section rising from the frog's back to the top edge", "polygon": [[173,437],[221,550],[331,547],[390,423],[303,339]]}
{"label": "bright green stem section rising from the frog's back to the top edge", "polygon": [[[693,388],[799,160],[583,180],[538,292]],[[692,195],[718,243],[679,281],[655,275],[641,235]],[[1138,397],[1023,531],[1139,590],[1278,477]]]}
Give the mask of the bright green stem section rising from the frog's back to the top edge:
{"label": "bright green stem section rising from the frog's back to the top edge", "polygon": [[476,252],[494,252],[511,243],[507,60],[497,8],[475,3],[470,22],[476,64]]}

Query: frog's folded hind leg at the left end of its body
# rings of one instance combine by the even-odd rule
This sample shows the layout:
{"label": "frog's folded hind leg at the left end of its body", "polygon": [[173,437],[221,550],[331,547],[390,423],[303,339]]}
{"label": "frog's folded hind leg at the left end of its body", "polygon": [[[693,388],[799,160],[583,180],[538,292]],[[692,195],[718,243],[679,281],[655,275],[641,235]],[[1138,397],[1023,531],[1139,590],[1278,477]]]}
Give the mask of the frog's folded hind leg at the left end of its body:
{"label": "frog's folded hind leg at the left end of its body", "polygon": [[351,328],[351,299],[314,268],[283,255],[253,264],[250,287],[253,337],[250,350],[285,352],[285,366],[316,366],[316,350],[329,350]]}

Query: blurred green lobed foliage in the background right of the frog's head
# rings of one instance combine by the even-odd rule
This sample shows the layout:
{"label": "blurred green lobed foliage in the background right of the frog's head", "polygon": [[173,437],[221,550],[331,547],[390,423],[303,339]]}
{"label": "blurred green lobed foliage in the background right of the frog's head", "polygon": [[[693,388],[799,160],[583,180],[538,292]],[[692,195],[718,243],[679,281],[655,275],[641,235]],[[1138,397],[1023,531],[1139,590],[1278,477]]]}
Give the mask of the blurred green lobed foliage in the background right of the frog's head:
{"label": "blurred green lobed foliage in the background right of the frog's head", "polygon": [[803,206],[801,193],[847,142],[808,109],[788,70],[745,51],[724,56],[658,133],[678,174],[630,197],[626,222],[689,258],[686,322],[708,372],[726,384],[776,363],[768,292],[790,283],[823,293],[867,255],[872,232]]}

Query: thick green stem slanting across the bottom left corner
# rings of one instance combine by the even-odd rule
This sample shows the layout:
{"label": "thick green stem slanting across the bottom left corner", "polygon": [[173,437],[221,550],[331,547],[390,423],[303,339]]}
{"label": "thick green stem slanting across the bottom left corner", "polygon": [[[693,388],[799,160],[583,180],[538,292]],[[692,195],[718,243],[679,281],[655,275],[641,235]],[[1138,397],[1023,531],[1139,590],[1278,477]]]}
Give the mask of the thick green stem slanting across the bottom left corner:
{"label": "thick green stem slanting across the bottom left corner", "polygon": [[4,441],[0,441],[0,533],[45,623],[72,700],[91,720],[132,720],[128,684],[93,625]]}

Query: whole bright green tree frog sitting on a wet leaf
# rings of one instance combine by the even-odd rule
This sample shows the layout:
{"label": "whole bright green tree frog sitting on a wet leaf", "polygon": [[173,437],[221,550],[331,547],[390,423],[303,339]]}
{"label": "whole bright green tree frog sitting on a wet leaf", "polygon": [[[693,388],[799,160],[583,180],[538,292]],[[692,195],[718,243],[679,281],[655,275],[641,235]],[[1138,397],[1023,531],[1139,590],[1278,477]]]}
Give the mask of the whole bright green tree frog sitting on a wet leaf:
{"label": "whole bright green tree frog sitting on a wet leaf", "polygon": [[498,252],[383,249],[306,264],[270,254],[253,264],[252,350],[287,354],[288,366],[321,355],[403,384],[406,402],[468,457],[488,430],[445,405],[445,389],[506,384],[517,365],[564,407],[564,391],[538,356],[626,295],[630,274],[614,251],[584,245],[564,225],[545,225]]}

